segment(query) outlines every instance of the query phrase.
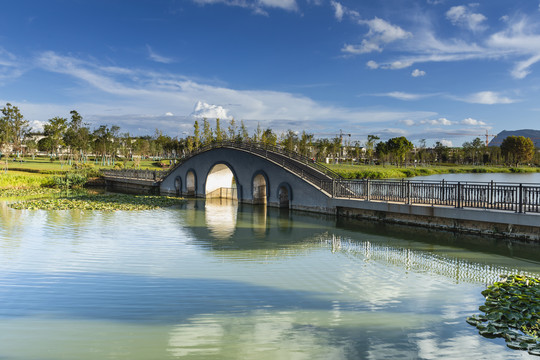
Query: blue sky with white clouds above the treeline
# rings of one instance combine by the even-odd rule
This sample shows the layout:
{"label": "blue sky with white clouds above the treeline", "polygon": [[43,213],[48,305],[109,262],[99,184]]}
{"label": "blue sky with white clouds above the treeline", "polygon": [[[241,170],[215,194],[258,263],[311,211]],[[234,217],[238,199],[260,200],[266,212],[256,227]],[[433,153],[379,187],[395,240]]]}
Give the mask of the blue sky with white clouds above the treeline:
{"label": "blue sky with white clouds above the treeline", "polygon": [[[536,0],[18,0],[0,104],[171,136],[195,117],[460,146],[540,128]],[[482,137],[485,139],[485,137]]]}

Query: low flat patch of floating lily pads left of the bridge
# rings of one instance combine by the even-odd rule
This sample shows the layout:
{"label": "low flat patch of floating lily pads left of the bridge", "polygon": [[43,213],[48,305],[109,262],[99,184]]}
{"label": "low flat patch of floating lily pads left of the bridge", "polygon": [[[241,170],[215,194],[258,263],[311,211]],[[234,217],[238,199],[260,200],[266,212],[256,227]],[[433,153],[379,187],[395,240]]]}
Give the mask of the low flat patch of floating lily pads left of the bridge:
{"label": "low flat patch of floating lily pads left of the bridge", "polygon": [[17,210],[100,210],[100,211],[133,211],[152,210],[179,205],[181,198],[166,196],[142,196],[127,194],[90,194],[82,193],[59,197],[23,200],[10,203]]}

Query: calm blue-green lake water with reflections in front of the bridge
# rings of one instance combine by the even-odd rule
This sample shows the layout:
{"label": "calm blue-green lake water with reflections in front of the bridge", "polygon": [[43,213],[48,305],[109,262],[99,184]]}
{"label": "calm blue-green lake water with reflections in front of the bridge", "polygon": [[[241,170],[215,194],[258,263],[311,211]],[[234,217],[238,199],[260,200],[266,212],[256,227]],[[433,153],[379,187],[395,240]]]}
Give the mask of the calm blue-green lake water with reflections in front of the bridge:
{"label": "calm blue-green lake water with reflections in front of the bridge", "polygon": [[0,359],[521,359],[465,322],[540,251],[490,238],[188,201],[0,203]]}

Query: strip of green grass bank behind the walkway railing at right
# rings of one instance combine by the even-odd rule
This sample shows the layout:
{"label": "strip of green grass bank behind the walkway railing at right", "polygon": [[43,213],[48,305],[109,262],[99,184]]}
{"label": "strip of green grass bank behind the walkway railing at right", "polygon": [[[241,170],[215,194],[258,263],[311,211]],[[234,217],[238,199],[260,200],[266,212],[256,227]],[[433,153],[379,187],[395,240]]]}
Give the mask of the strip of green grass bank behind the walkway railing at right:
{"label": "strip of green grass bank behind the walkway railing at right", "polygon": [[540,172],[533,167],[472,166],[472,165],[435,165],[429,167],[397,167],[393,165],[350,165],[325,164],[328,168],[346,179],[397,179],[413,176],[454,173],[516,173]]}

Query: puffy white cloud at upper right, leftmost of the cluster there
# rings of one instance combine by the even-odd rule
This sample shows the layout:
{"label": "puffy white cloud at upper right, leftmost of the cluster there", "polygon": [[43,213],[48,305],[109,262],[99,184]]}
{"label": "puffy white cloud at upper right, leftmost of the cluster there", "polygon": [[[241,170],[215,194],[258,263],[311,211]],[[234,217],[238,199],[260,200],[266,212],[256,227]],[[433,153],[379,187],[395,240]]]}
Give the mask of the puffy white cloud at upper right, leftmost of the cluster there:
{"label": "puffy white cloud at upper right, leftmost of the cluster there", "polygon": [[367,25],[369,31],[360,44],[346,44],[342,48],[345,53],[358,55],[374,51],[381,52],[385,44],[412,36],[410,32],[403,30],[401,27],[377,17],[371,20],[358,20],[358,23]]}

